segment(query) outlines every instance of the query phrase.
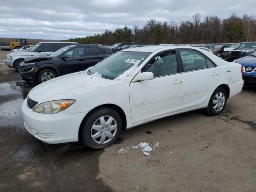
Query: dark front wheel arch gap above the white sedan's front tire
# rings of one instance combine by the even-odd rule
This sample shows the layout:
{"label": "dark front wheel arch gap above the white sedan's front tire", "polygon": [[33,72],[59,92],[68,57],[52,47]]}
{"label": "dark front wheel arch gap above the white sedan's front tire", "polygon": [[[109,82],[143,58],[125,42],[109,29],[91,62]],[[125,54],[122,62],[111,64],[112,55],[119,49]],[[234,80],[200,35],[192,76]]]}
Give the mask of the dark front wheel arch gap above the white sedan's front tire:
{"label": "dark front wheel arch gap above the white sedan's front tire", "polygon": [[118,114],[120,115],[121,119],[122,119],[122,130],[126,130],[126,125],[127,125],[127,120],[126,120],[126,115],[124,113],[124,110],[122,110],[122,108],[120,108],[120,106],[117,106],[116,104],[102,104],[100,106],[97,106],[95,108],[93,108],[92,110],[90,110],[90,112],[88,112],[86,114],[86,116],[83,118],[82,122],[80,123],[80,127],[79,127],[79,131],[78,131],[78,140],[80,140],[80,131],[82,130],[82,124],[84,123],[84,121],[86,120],[86,118],[95,110],[98,110],[100,108],[104,108],[104,107],[109,107],[112,108],[114,110],[116,110],[118,112]]}

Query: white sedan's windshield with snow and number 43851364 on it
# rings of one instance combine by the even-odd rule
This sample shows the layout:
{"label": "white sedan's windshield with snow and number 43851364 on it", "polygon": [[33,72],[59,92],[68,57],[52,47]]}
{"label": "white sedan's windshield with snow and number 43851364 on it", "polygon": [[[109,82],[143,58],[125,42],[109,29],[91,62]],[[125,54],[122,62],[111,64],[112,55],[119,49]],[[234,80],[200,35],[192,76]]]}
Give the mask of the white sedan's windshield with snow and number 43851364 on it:
{"label": "white sedan's windshield with snow and number 43851364 on it", "polygon": [[88,70],[87,74],[100,74],[103,78],[114,79],[134,65],[135,70],[150,54],[148,52],[117,52]]}

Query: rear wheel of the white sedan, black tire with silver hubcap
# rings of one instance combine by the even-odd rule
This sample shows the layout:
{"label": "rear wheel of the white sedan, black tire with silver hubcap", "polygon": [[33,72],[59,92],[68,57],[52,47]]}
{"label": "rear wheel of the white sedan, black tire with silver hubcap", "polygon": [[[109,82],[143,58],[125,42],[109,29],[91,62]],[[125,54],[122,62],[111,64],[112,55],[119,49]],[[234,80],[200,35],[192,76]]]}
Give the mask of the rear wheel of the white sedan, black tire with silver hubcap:
{"label": "rear wheel of the white sedan, black tire with silver hubcap", "polygon": [[[220,100],[218,100],[218,97],[216,97],[216,95],[218,95]],[[226,107],[226,103],[227,103],[227,93],[224,88],[218,87],[216,88],[216,90],[214,90],[210,98],[210,101],[206,108],[206,112],[212,116],[219,115]]]}

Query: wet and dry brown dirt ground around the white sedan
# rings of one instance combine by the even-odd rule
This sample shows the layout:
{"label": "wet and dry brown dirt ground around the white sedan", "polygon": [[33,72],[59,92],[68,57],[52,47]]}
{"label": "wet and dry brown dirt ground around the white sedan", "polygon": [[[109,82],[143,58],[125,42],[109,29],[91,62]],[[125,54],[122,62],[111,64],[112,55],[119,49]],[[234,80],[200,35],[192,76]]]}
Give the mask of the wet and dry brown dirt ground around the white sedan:
{"label": "wet and dry brown dirt ground around the white sedan", "polygon": [[[31,136],[20,106],[32,87],[0,64],[1,192],[256,192],[255,87],[230,98],[219,116],[196,110],[150,122],[104,150]],[[145,156],[132,148],[140,142],[160,145]]]}

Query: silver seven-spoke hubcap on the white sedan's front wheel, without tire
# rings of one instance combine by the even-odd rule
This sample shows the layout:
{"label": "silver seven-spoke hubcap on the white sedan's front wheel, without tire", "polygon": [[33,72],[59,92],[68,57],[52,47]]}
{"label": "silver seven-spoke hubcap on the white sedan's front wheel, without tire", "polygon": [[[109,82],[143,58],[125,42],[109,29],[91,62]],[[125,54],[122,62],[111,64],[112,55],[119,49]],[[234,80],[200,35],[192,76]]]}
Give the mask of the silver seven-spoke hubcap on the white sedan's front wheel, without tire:
{"label": "silver seven-spoke hubcap on the white sedan's front wheel, without tire", "polygon": [[98,144],[105,144],[114,138],[116,131],[116,120],[112,116],[102,116],[92,125],[91,138]]}

